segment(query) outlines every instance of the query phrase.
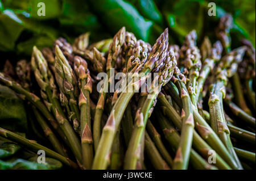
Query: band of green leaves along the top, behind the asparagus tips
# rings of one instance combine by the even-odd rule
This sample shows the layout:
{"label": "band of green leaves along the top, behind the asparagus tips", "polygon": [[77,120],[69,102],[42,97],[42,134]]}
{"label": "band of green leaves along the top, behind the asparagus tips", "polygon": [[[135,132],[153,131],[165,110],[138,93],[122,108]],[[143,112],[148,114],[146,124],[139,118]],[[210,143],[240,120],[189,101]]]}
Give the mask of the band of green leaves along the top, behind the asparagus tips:
{"label": "band of green leaves along the top, behind the asparagus tips", "polygon": [[[38,16],[39,2],[45,3],[46,16]],[[209,2],[216,3],[217,16],[208,16]],[[193,29],[200,38],[213,32],[226,12],[234,17],[234,36],[255,45],[255,1],[251,0],[1,0],[0,4],[1,52],[28,56],[32,45],[51,46],[59,36],[72,41],[90,31],[91,40],[97,41],[113,36],[122,26],[150,43],[169,27],[171,41],[180,44]]]}

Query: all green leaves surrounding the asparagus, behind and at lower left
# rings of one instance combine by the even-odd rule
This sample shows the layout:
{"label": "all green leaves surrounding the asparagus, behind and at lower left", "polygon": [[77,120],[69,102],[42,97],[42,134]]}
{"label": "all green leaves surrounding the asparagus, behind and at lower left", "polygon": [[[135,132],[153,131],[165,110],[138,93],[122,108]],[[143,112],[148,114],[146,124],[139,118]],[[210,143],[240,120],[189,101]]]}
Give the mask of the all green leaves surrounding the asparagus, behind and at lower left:
{"label": "all green leaves surrounding the asparagus, behind and at lower left", "polygon": [[[45,3],[46,16],[38,16],[39,2]],[[217,16],[208,15],[209,2],[216,3]],[[255,46],[255,1],[251,0],[0,0],[0,69],[6,59],[13,63],[20,58],[29,60],[33,45],[52,47],[60,36],[72,43],[76,36],[88,31],[94,42],[112,37],[122,26],[151,44],[166,27],[171,43],[180,45],[192,30],[197,31],[199,43],[205,35],[214,41],[214,30],[226,13],[234,18],[232,47],[237,47],[244,37]],[[24,105],[13,91],[0,85],[0,127],[26,133],[24,136],[29,138],[38,125],[28,127],[33,117],[26,116]],[[36,134],[32,139],[43,137],[42,132]],[[15,157],[9,158],[10,155]],[[0,142],[0,169],[62,166],[51,159],[48,165],[37,165],[33,156],[24,157],[24,150],[14,143]]]}

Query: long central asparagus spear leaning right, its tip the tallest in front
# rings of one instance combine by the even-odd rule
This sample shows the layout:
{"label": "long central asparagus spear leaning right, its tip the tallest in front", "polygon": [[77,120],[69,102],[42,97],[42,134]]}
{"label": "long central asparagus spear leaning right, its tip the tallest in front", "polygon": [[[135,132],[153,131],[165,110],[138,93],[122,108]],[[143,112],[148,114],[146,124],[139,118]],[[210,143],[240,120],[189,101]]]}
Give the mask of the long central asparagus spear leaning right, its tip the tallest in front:
{"label": "long central asparagus spear leaning right, its tip the tallest in front", "polygon": [[[114,41],[113,41],[114,42]],[[150,72],[152,69],[157,68],[158,65],[162,63],[166,57],[166,50],[168,47],[168,30],[166,29],[164,33],[156,40],[155,45],[152,47],[152,50],[148,56],[147,62],[142,68],[142,64],[138,65],[135,69],[135,72],[141,72],[141,79],[138,82],[131,82],[127,88],[133,87],[131,92],[125,90],[122,92],[110,112],[109,119],[103,129],[101,139],[96,150],[96,155],[93,161],[93,169],[105,169],[108,165],[108,157],[110,148],[113,144],[114,135],[119,127],[119,123],[122,119],[123,112],[127,104],[129,103],[131,97],[134,95],[135,91],[138,91],[141,87],[141,84],[145,81],[145,75]]]}

